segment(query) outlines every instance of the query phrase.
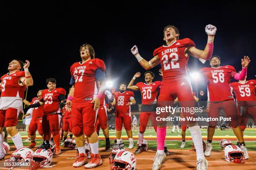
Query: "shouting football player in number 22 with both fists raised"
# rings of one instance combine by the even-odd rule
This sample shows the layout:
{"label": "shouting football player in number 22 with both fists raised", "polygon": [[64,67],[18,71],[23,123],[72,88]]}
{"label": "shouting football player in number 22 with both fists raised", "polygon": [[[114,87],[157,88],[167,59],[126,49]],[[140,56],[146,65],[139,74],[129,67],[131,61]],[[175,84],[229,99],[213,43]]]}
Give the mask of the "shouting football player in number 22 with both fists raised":
{"label": "shouting football player in number 22 with both fists raised", "polygon": [[[192,96],[190,80],[187,78],[187,62],[189,55],[196,58],[209,60],[213,51],[213,40],[217,28],[213,25],[207,25],[205,32],[208,35],[207,45],[204,50],[195,47],[195,43],[189,38],[179,40],[179,30],[168,25],[164,28],[164,41],[166,45],[154,50],[154,57],[148,62],[138,53],[138,47],[135,45],[131,52],[135,55],[141,66],[149,70],[152,67],[161,64],[163,70],[163,80],[158,98],[158,106],[165,107],[166,103],[172,105],[176,97],[179,98],[182,107],[193,107],[195,105]],[[170,102],[171,101],[171,102]],[[190,101],[190,102],[183,102]],[[161,113],[161,117],[168,117],[168,112]],[[184,112],[184,116],[194,116],[189,112]],[[189,130],[197,152],[197,169],[207,169],[207,160],[203,152],[202,134],[197,122],[189,122]],[[157,152],[154,159],[152,170],[159,170],[164,154],[164,140],[166,137],[166,122],[159,122],[157,126]]]}

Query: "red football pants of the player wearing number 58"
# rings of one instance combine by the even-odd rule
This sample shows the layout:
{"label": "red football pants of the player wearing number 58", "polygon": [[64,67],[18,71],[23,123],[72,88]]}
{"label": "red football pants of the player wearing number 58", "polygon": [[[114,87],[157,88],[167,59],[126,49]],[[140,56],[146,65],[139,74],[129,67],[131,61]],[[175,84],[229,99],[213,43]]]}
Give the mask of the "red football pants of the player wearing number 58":
{"label": "red football pants of the player wearing number 58", "polygon": [[[208,113],[208,117],[218,118],[220,110],[223,109],[225,115],[221,117],[231,118],[231,120],[227,121],[227,123],[232,126],[236,127],[239,125],[238,123],[238,115],[236,112],[236,104],[234,100],[226,100],[222,102],[210,102],[210,112]],[[220,120],[220,118],[218,119]],[[216,121],[210,121],[209,126],[215,127],[218,123]],[[223,120],[220,120],[223,121]]]}

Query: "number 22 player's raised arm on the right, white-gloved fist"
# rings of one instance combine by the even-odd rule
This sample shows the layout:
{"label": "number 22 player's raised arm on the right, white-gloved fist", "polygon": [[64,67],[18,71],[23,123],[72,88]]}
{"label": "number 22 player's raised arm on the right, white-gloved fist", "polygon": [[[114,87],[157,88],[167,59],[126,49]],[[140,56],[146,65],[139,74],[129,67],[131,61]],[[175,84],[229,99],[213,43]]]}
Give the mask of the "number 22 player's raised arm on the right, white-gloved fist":
{"label": "number 22 player's raised arm on the right, white-gloved fist", "polygon": [[208,35],[207,44],[205,46],[204,50],[199,50],[194,46],[189,46],[185,49],[185,55],[188,57],[189,55],[192,55],[196,58],[201,58],[204,60],[210,60],[210,57],[212,56],[213,52],[213,40],[214,35],[217,31],[217,28],[213,25],[206,25],[205,32]]}

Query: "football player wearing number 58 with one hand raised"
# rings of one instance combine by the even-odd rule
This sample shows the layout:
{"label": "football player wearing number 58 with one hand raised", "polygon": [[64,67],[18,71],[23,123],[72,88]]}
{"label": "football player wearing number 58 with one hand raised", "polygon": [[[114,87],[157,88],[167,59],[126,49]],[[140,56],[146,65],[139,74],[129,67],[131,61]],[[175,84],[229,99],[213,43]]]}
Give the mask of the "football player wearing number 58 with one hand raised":
{"label": "football player wearing number 58 with one hand raised", "polygon": [[[236,105],[234,97],[230,89],[230,79],[244,80],[246,77],[247,66],[250,63],[250,58],[244,56],[241,60],[242,72],[239,74],[236,69],[231,65],[220,66],[220,57],[213,55],[210,58],[211,67],[203,67],[201,72],[205,77],[208,100],[210,101],[209,117],[218,118],[220,109],[223,109],[226,117],[231,117],[229,124],[231,125],[234,134],[238,138],[241,149],[245,156],[248,155],[245,143],[243,140],[243,133],[238,123],[238,115],[236,112]],[[210,156],[212,151],[212,138],[215,132],[215,127],[218,121],[210,121],[207,128],[207,147],[205,156]]]}

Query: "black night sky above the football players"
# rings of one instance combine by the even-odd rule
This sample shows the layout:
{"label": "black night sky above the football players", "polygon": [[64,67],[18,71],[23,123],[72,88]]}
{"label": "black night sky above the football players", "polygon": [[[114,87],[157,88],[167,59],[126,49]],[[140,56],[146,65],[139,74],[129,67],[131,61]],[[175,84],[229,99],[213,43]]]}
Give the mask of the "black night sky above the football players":
{"label": "black night sky above the football players", "polygon": [[[133,45],[150,60],[154,49],[164,44],[163,29],[170,24],[179,29],[180,39],[189,37],[203,50],[207,43],[205,25],[212,24],[218,29],[213,55],[221,57],[221,65],[233,65],[237,71],[241,70],[241,57],[248,55],[248,78],[255,79],[256,8],[250,1],[202,4],[205,7],[187,3],[169,7],[116,5],[1,4],[1,75],[8,72],[11,59],[29,60],[34,85],[29,87],[28,100],[46,88],[45,80],[49,77],[56,78],[57,87],[68,90],[70,66],[80,60],[79,47],[87,42],[94,47],[96,57],[104,60],[107,79],[116,80],[118,86],[119,82],[128,83],[136,72],[145,72],[131,54]],[[209,62],[203,65],[190,56],[188,66],[196,71],[209,67]],[[154,80],[161,80],[159,68],[160,65],[151,69],[156,74]],[[142,76],[136,82],[143,80]],[[140,103],[139,92],[136,99]]]}

